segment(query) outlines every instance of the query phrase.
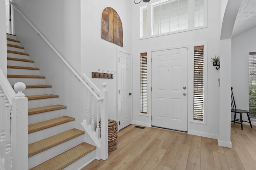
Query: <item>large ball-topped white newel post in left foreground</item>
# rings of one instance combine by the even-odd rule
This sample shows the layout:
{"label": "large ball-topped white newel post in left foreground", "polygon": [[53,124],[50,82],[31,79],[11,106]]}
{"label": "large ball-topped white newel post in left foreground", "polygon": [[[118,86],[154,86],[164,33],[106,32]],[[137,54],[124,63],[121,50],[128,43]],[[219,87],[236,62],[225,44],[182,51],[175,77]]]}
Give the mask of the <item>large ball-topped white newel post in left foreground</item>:
{"label": "large ball-topped white newel post in left foreground", "polygon": [[26,85],[14,84],[18,91],[12,99],[12,169],[28,169],[28,98],[22,93]]}

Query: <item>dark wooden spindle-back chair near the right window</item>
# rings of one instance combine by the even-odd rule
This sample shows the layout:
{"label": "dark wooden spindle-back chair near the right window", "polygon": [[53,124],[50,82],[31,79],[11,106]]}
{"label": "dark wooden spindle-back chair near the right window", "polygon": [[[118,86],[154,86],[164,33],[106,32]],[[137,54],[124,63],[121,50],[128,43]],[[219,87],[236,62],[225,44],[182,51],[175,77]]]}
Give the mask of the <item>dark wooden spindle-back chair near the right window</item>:
{"label": "dark wooden spindle-back chair near the right window", "polygon": [[[250,120],[250,117],[249,117],[249,112],[250,111],[249,110],[236,109],[236,102],[235,102],[235,99],[234,99],[233,88],[232,87],[231,87],[231,112],[234,112],[234,120],[232,120],[232,122],[240,123],[242,130],[243,130],[243,121],[250,123],[251,128],[252,128],[252,123],[251,123],[251,120]],[[240,119],[236,119],[236,113],[240,114]],[[242,113],[246,113],[247,114],[247,117],[248,117],[249,121],[245,121],[245,120],[242,119]]]}

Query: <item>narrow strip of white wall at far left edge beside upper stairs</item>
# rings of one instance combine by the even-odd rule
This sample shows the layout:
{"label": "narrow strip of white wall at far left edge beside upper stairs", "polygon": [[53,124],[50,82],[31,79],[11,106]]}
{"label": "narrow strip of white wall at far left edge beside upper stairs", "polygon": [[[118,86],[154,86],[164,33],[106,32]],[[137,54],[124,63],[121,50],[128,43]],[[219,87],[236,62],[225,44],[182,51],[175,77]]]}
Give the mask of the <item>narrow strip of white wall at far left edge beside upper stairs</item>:
{"label": "narrow strip of white wall at far left edge beside upper stairs", "polygon": [[0,68],[7,75],[5,1],[0,2]]}

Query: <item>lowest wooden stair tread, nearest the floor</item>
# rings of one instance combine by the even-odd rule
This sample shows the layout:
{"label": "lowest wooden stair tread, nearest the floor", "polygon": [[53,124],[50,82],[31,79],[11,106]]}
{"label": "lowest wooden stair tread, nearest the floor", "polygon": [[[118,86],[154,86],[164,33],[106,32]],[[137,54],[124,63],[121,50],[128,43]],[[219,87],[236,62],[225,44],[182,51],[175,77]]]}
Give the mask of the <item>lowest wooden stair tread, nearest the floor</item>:
{"label": "lowest wooden stair tread, nearest the floor", "polygon": [[61,170],[95,149],[93,145],[81,143],[30,170]]}

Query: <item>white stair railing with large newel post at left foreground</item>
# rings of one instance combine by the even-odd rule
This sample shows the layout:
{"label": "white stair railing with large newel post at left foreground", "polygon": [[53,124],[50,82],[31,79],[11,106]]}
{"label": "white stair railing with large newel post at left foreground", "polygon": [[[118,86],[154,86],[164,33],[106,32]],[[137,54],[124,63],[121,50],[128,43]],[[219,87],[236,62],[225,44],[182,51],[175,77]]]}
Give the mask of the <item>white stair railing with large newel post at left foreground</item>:
{"label": "white stair railing with large newel post at left foreground", "polygon": [[14,84],[18,91],[15,94],[0,69],[0,167],[3,170],[28,169],[28,98],[22,93],[25,88],[24,83]]}

